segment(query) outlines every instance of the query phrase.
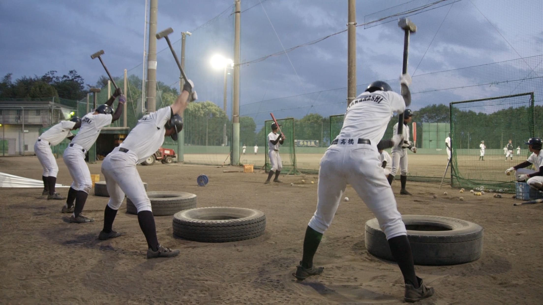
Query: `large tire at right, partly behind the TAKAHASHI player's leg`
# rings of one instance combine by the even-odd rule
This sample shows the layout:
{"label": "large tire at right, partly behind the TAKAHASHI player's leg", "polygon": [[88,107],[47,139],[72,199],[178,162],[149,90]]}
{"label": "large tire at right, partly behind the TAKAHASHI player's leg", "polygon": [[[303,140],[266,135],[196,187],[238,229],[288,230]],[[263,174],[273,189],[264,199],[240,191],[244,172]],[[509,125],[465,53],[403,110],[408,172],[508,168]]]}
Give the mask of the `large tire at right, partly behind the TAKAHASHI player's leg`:
{"label": "large tire at right, partly behind the TAKAHASHI player's leg", "polygon": [[[478,259],[483,253],[483,228],[470,221],[431,215],[402,215],[402,220],[406,226],[433,225],[452,229],[407,230],[415,265],[463,264]],[[365,225],[365,245],[372,255],[395,261],[376,218]]]}

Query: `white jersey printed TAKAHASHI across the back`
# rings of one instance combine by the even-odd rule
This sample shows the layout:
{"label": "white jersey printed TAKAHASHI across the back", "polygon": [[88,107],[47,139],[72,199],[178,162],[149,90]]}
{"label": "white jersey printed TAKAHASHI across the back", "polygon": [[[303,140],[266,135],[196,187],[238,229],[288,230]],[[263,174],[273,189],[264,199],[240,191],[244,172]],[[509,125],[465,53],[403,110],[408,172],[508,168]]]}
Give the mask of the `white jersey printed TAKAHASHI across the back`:
{"label": "white jersey printed TAKAHASHI across the back", "polygon": [[403,112],[405,107],[403,98],[394,91],[363,92],[347,107],[337,138],[365,138],[377,147],[387,130],[382,122],[389,122],[394,112]]}

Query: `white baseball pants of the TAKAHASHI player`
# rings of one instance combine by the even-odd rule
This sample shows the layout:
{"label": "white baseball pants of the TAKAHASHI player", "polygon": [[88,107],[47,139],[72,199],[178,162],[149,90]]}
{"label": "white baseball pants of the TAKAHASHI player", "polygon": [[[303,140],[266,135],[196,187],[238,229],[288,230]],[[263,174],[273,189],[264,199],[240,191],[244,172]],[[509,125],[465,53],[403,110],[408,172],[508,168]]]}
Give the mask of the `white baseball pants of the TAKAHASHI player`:
{"label": "white baseball pants of the TAKAHASHI player", "polygon": [[377,148],[368,144],[328,148],[320,160],[317,211],[308,225],[319,233],[327,230],[349,183],[374,213],[387,239],[407,235],[380,163]]}

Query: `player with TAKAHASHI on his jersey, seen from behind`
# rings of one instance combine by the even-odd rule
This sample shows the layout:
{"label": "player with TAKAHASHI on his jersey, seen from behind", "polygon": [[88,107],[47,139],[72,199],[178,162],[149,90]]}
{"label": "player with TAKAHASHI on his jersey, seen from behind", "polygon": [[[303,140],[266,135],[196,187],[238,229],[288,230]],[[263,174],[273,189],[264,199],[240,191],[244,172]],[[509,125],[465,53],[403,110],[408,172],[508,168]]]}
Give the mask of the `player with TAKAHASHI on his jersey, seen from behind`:
{"label": "player with TAKAHASHI on his jersey, seen from behind", "polygon": [[[414,302],[433,295],[433,288],[426,287],[415,275],[406,227],[397,210],[392,188],[383,175],[377,151],[381,145],[377,142],[383,137],[393,112],[402,112],[406,104],[411,104],[409,82],[408,75],[401,78],[402,96],[393,92],[386,82],[372,82],[347,107],[340,134],[320,160],[317,211],[306,228],[304,252],[294,274],[296,278],[302,280],[323,272],[323,267],[313,266],[313,256],[349,183],[375,214],[386,234],[390,251],[403,274],[405,300]],[[388,147],[398,145],[403,143],[403,138],[394,134],[388,142]]]}

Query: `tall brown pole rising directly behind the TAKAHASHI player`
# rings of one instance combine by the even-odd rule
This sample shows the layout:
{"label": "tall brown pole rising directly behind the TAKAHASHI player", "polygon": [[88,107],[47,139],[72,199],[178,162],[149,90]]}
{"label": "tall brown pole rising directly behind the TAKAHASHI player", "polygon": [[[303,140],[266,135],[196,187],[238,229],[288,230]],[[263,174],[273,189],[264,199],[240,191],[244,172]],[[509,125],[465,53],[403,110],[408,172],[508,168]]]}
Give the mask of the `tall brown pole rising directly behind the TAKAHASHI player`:
{"label": "tall brown pole rising directly behind the TAKAHASHI player", "polygon": [[356,0],[349,0],[347,33],[347,106],[349,106],[356,98]]}

